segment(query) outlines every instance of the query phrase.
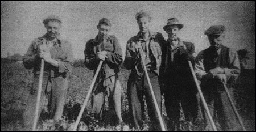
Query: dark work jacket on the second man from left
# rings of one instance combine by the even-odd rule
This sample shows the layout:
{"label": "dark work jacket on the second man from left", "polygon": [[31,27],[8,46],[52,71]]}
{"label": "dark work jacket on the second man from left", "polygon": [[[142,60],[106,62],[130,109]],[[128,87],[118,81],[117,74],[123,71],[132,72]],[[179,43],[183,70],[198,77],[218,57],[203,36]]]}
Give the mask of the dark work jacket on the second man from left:
{"label": "dark work jacket on the second man from left", "polygon": [[94,73],[97,70],[100,59],[97,58],[97,52],[106,51],[106,56],[102,64],[100,77],[109,78],[110,76],[116,75],[119,73],[119,65],[121,65],[122,59],[122,48],[119,44],[117,38],[113,35],[106,36],[106,43],[103,46],[100,46],[98,42],[98,36],[95,39],[90,39],[85,46],[84,55],[85,55],[85,66],[94,70]]}

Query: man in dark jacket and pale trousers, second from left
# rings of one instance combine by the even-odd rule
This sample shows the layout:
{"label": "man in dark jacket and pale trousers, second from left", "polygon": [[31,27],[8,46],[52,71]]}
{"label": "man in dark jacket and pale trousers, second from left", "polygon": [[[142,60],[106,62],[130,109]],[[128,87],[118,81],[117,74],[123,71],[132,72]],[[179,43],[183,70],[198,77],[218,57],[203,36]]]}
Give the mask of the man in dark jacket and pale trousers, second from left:
{"label": "man in dark jacket and pale trousers, second from left", "polygon": [[100,60],[104,61],[96,80],[92,98],[92,114],[96,119],[102,119],[105,93],[108,93],[110,108],[115,110],[118,125],[122,125],[121,116],[121,84],[118,79],[119,65],[122,63],[122,48],[117,38],[108,35],[111,28],[109,19],[102,18],[97,25],[98,35],[86,43],[84,50],[85,66],[97,70]]}

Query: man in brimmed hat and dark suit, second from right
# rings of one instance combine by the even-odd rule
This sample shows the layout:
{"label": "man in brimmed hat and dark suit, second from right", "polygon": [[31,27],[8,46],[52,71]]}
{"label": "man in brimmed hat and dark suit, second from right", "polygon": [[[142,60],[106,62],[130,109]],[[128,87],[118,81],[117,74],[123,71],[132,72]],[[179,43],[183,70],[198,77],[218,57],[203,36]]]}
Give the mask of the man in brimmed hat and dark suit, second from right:
{"label": "man in brimmed hat and dark suit, second from right", "polygon": [[180,129],[180,103],[188,126],[197,117],[196,85],[188,64],[188,61],[194,62],[195,46],[192,42],[180,39],[181,28],[183,24],[177,18],[168,19],[167,25],[163,27],[168,40],[162,47],[160,79],[163,81],[164,103],[171,131]]}

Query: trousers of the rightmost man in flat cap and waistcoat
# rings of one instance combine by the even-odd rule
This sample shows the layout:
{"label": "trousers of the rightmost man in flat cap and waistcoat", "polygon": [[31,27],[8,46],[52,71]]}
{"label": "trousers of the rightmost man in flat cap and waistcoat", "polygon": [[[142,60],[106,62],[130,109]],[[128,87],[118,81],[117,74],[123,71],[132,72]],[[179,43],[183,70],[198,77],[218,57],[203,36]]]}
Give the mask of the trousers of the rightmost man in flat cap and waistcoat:
{"label": "trousers of the rightmost man in flat cap and waistcoat", "polygon": [[[208,85],[208,87],[201,87],[213,119],[218,121],[222,131],[242,131],[241,125],[239,124],[232,106],[229,103],[228,96],[226,96],[226,92],[222,84],[219,82],[214,82],[211,84],[212,85]],[[233,88],[229,88],[229,93],[234,101]],[[201,108],[204,107],[202,106]],[[204,110],[203,117],[205,119],[205,123],[208,124],[207,128],[212,131],[212,126],[210,126],[209,123],[209,117],[206,115],[207,114]]]}

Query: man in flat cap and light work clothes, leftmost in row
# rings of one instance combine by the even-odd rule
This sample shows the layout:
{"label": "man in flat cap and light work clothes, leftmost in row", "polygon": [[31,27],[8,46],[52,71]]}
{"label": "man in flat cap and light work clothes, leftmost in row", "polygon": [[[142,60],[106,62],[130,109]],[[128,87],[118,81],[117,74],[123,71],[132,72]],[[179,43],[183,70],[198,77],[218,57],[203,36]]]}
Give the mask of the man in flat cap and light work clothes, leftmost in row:
{"label": "man in flat cap and light work clothes, leftmost in row", "polygon": [[23,59],[26,69],[34,69],[34,82],[23,113],[24,126],[27,129],[31,129],[35,117],[40,60],[43,59],[45,63],[39,114],[45,105],[47,93],[51,93],[49,112],[55,122],[61,119],[68,88],[68,76],[73,68],[72,45],[60,37],[59,16],[49,16],[43,20],[43,24],[47,33],[32,41]]}

